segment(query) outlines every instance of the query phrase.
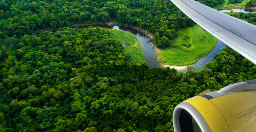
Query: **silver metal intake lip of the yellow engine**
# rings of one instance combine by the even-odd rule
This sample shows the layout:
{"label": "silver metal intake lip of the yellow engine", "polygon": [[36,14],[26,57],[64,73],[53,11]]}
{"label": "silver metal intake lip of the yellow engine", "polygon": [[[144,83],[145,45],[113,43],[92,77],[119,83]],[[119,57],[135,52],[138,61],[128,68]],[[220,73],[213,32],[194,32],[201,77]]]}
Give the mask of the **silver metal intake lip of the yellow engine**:
{"label": "silver metal intake lip of the yellow engine", "polygon": [[181,102],[173,110],[173,128],[175,132],[181,132],[180,130],[180,112],[186,110],[197,122],[202,132],[211,132],[210,127],[204,120],[204,117],[198,112],[198,110],[187,102]]}

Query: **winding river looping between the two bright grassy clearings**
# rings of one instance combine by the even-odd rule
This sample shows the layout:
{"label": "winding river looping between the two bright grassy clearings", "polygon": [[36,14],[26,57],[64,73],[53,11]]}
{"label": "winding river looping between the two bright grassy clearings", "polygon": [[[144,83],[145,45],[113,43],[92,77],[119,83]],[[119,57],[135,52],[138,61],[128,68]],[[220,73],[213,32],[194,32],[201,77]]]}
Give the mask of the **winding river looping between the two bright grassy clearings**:
{"label": "winding river looping between the two bright grassy clearings", "polygon": [[[127,31],[127,32],[132,33],[140,41],[140,46],[142,48],[144,58],[146,59],[149,68],[155,68],[155,67],[163,68],[164,67],[164,65],[162,63],[157,61],[156,51],[155,51],[152,43],[148,42],[147,36],[143,35],[139,31],[134,30],[133,28],[127,28],[127,27],[123,27],[123,26],[113,26],[113,27],[107,26],[107,25],[93,25],[93,26],[94,27],[99,26],[104,29]],[[81,28],[88,28],[88,27],[89,26],[77,26],[76,28],[81,29]],[[72,27],[72,28],[74,28],[74,27]],[[219,51],[221,51],[225,46],[226,45],[224,43],[222,43],[220,40],[217,40],[215,47],[212,49],[212,52],[210,52],[205,57],[199,59],[196,63],[194,63],[191,66],[193,66],[196,69],[196,71],[202,69],[208,61],[212,62],[214,60],[213,57],[216,54],[218,54]],[[186,73],[187,71],[185,69],[185,70],[180,70],[179,72]]]}

